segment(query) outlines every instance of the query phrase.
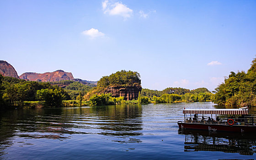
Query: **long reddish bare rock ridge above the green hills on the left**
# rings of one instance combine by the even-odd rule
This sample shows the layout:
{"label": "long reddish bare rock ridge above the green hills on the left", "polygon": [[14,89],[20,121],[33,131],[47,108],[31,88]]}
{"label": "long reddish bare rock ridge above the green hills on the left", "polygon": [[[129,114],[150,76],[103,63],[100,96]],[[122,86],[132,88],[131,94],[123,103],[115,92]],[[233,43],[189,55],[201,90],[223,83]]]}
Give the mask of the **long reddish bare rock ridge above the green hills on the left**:
{"label": "long reddish bare rock ridge above the green hills on the left", "polygon": [[46,72],[42,74],[27,72],[20,75],[20,79],[29,81],[56,82],[60,80],[74,80],[74,77],[70,72],[56,70],[54,72]]}

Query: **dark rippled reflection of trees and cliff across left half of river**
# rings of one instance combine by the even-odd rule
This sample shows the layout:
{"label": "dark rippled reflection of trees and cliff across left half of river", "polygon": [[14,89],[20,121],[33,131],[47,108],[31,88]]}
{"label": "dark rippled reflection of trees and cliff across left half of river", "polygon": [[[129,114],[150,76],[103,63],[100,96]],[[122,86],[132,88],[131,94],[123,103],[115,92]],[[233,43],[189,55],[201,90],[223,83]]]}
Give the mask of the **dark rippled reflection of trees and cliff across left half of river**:
{"label": "dark rippled reflection of trees and cliff across left half of river", "polygon": [[[127,139],[141,133],[139,105],[38,108],[0,113],[0,155],[14,136],[29,139],[68,139],[70,134],[101,134]],[[130,139],[129,142],[140,142]],[[120,141],[120,143],[122,143]]]}

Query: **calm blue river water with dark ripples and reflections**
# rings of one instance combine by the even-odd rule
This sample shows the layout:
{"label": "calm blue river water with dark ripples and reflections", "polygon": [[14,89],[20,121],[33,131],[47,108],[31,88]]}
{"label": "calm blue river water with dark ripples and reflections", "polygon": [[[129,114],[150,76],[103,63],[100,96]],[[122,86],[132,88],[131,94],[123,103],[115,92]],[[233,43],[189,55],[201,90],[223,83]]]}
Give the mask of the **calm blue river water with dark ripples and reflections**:
{"label": "calm blue river water with dark ripples and reflections", "polygon": [[0,160],[256,158],[256,134],[179,131],[184,107],[217,108],[196,102],[1,111]]}

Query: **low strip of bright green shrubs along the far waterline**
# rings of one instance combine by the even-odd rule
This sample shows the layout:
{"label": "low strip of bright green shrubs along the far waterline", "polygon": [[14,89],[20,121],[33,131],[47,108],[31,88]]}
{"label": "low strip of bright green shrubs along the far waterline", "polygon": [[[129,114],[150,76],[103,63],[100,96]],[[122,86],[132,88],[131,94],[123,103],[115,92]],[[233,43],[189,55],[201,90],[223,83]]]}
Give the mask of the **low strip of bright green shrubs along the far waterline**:
{"label": "low strip of bright green shrubs along the far waterline", "polygon": [[[123,96],[112,97],[111,94],[93,95],[89,101],[82,100],[63,100],[60,106],[54,107],[82,107],[82,106],[105,106],[105,105],[121,105],[121,104],[149,104],[149,103],[181,103],[181,102],[203,102],[211,101],[210,93],[196,93],[187,95],[164,94],[160,97],[142,96],[139,94],[137,100],[125,101]],[[24,101],[22,108],[42,108],[50,107],[45,101]]]}

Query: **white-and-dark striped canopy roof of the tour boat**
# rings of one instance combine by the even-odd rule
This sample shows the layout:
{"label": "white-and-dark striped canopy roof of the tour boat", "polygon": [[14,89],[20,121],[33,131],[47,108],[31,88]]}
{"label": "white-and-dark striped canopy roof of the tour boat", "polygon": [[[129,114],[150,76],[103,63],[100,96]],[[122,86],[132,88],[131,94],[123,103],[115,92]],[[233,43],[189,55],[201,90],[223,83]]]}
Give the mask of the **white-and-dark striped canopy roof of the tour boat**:
{"label": "white-and-dark striped canopy roof of the tour boat", "polygon": [[243,107],[239,109],[185,109],[183,110],[185,114],[248,114],[248,107]]}

